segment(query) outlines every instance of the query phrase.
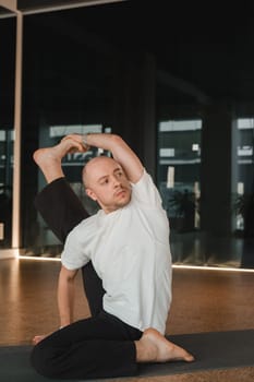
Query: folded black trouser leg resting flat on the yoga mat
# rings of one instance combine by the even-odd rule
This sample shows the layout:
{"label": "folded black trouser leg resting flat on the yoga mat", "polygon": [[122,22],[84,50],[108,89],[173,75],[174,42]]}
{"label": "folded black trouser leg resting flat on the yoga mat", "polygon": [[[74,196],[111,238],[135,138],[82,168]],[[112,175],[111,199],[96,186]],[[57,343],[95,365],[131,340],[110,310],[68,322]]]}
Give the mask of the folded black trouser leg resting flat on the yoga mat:
{"label": "folded black trouser leg resting flat on the yoga mat", "polygon": [[142,332],[101,312],[55,332],[36,345],[32,365],[61,379],[128,377],[137,373],[134,341]]}

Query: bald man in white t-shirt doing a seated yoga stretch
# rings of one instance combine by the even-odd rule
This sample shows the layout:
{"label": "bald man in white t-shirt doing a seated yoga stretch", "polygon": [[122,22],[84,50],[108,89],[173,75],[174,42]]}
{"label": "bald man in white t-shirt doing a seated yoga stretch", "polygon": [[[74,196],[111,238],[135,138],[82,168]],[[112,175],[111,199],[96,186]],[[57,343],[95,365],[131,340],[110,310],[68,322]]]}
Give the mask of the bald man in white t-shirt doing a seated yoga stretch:
{"label": "bald man in white t-shirt doing a seated yoga stretch", "polygon": [[[84,167],[86,192],[100,206],[86,218],[70,196],[61,159],[90,145],[112,157],[93,158]],[[118,135],[73,134],[38,150],[34,158],[49,183],[47,198],[37,205],[65,241],[58,288],[62,329],[37,341],[35,369],[50,378],[92,379],[134,375],[140,362],[192,361],[192,355],[165,338],[171,302],[169,226],[158,190],[138,157]],[[52,190],[56,184],[63,207]],[[50,198],[56,204],[48,204]],[[76,211],[83,211],[78,224]],[[82,267],[88,274],[92,318],[73,322],[73,280]]]}

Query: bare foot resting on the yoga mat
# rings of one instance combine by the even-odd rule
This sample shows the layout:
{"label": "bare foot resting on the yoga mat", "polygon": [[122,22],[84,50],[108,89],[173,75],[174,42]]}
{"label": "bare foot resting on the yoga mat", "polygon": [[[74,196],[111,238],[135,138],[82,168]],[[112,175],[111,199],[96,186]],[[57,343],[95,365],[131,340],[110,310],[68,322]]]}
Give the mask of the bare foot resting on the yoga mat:
{"label": "bare foot resting on the yoga mat", "polygon": [[192,362],[194,357],[182,347],[171,343],[155,329],[144,331],[140,341],[135,342],[137,362]]}

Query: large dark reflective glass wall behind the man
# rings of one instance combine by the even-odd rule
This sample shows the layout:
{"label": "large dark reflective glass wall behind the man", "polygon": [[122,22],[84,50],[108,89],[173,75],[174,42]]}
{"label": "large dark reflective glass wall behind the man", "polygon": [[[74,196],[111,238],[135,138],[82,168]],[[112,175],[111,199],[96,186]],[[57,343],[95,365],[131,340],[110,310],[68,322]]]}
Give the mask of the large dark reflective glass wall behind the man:
{"label": "large dark reflective glass wall behind the man", "polygon": [[[234,196],[253,198],[253,129],[237,126],[254,115],[254,8],[218,13],[208,2],[207,13],[192,2],[183,13],[174,2],[169,22],[162,5],[144,17],[133,3],[24,16],[24,250],[61,252],[33,206],[44,186],[33,151],[97,126],[122,134],[153,172],[176,264],[254,267],[253,204],[234,207]],[[83,159],[64,159],[80,193]]]}

